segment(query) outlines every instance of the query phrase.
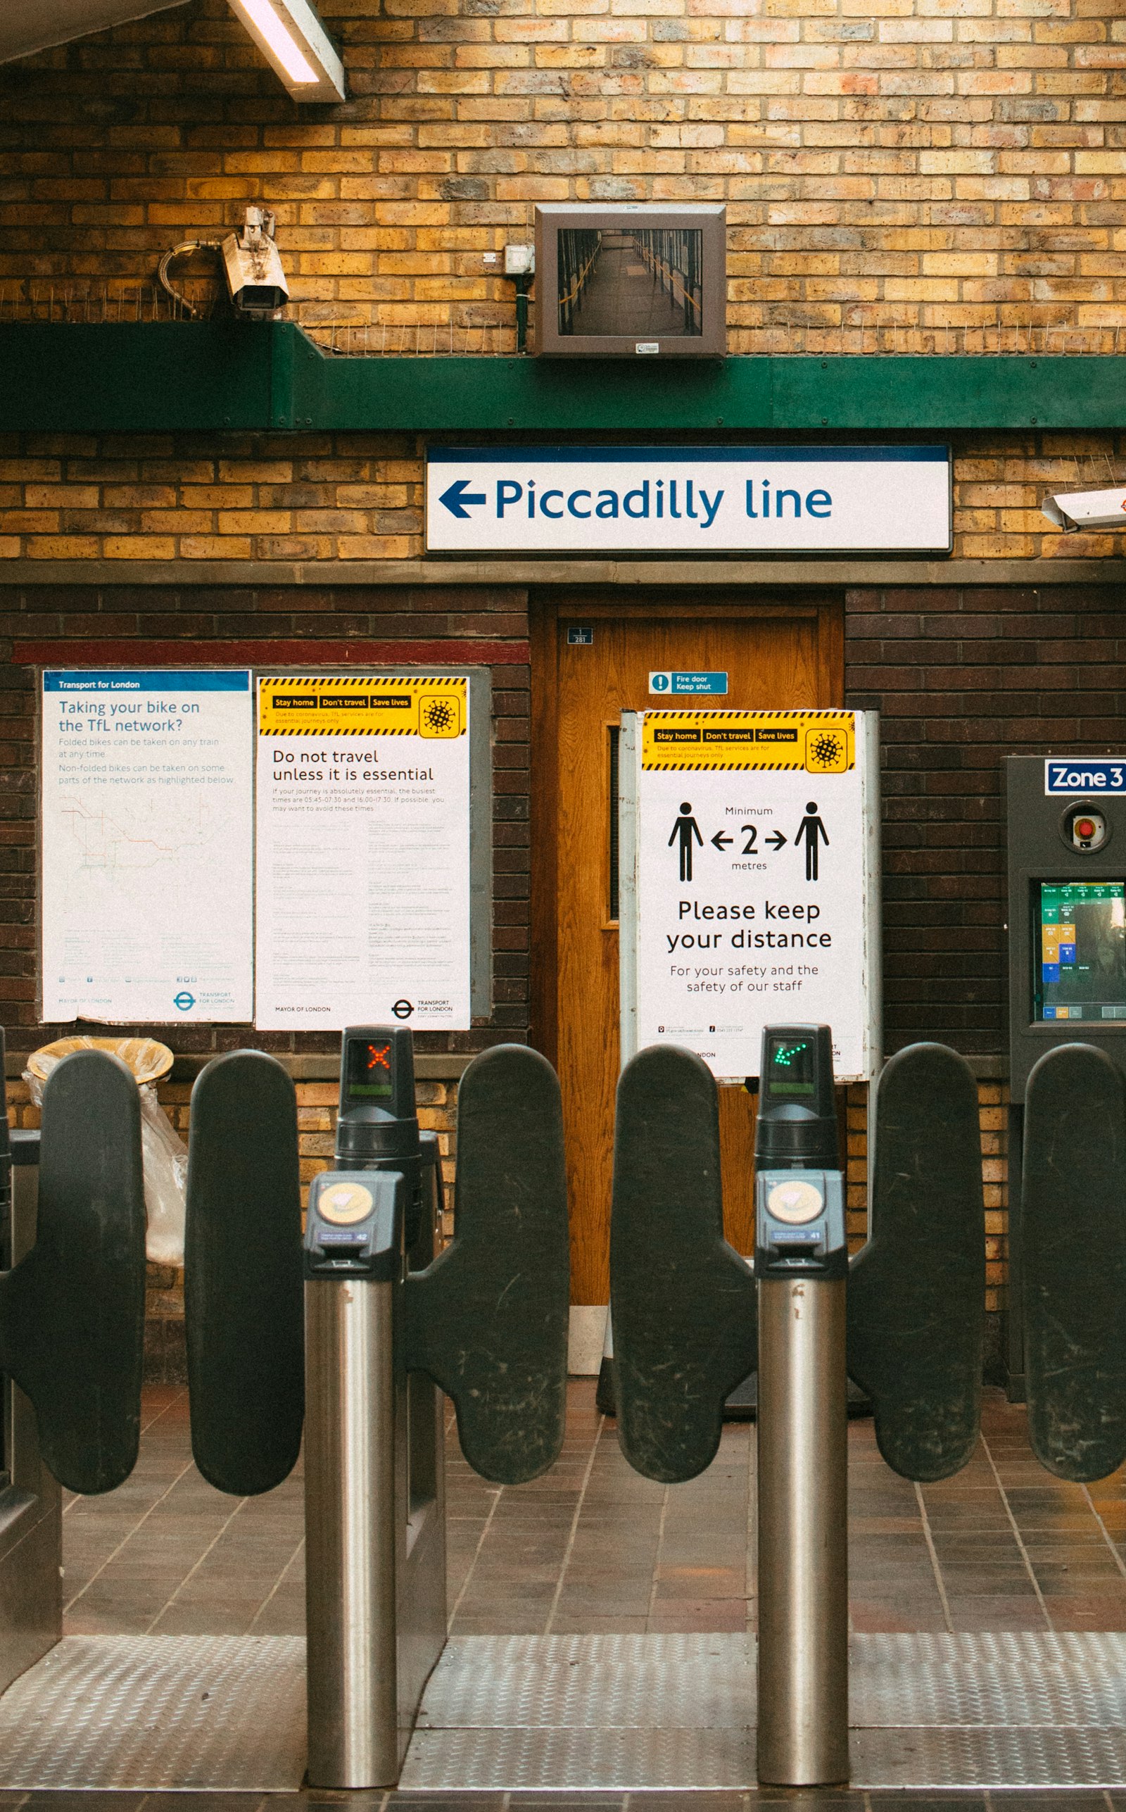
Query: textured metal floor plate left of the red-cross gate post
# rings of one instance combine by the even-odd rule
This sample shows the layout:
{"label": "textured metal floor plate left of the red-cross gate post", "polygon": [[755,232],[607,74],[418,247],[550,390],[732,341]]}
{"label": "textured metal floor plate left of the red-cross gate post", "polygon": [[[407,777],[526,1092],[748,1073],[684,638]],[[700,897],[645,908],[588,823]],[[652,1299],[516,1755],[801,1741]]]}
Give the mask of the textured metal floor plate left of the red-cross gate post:
{"label": "textured metal floor plate left of the red-cross gate post", "polygon": [[0,1788],[297,1790],[304,1638],[63,1636],[0,1698]]}

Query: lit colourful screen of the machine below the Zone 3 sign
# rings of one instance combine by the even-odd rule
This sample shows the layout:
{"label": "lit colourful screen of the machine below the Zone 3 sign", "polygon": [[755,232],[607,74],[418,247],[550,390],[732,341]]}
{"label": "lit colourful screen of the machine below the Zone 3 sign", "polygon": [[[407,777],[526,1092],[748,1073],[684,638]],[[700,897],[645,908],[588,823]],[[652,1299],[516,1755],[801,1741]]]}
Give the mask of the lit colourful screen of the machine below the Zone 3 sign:
{"label": "lit colourful screen of the machine below the Zone 3 sign", "polygon": [[1032,1018],[1126,1020],[1126,881],[1041,881],[1032,895]]}

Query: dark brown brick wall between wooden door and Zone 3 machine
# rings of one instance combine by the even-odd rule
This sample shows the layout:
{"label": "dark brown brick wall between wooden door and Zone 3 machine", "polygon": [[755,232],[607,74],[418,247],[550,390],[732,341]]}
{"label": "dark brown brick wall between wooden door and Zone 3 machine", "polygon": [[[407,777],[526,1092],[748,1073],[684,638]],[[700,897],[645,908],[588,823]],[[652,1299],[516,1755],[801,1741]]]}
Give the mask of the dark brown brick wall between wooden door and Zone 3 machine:
{"label": "dark brown brick wall between wooden door and Zone 3 machine", "polygon": [[845,696],[883,714],[887,1049],[1007,1047],[1005,756],[1126,725],[1119,587],[853,591]]}

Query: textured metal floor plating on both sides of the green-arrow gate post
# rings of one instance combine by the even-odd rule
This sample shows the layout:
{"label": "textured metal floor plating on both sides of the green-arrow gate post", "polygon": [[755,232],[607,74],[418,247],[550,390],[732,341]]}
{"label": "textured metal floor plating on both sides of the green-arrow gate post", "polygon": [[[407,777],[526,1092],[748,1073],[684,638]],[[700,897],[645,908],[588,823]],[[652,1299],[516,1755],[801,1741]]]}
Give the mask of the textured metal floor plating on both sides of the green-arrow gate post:
{"label": "textured metal floor plating on both sides of the green-arrow gate post", "polygon": [[[1126,1634],[851,1643],[854,1787],[1126,1787]],[[715,1636],[460,1636],[404,1788],[755,1785],[755,1645]]]}

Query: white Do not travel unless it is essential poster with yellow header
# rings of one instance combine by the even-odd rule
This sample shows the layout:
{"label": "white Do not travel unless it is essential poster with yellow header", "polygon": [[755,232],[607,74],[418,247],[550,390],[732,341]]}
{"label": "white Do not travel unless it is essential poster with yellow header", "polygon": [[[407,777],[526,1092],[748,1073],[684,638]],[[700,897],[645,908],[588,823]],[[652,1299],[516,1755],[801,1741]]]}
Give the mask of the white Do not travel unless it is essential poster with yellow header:
{"label": "white Do not travel unless it is essential poster with yellow header", "polygon": [[469,680],[259,680],[255,1024],[471,1024]]}

